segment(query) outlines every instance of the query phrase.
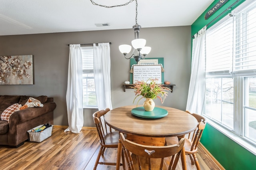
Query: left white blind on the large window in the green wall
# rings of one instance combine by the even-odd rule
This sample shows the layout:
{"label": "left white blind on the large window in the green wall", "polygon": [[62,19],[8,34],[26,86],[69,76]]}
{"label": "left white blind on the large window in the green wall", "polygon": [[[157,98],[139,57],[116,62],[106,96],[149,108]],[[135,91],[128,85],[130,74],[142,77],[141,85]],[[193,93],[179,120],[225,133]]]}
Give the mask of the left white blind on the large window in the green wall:
{"label": "left white blind on the large window in the green wall", "polygon": [[206,31],[207,75],[232,73],[233,18],[219,22]]}

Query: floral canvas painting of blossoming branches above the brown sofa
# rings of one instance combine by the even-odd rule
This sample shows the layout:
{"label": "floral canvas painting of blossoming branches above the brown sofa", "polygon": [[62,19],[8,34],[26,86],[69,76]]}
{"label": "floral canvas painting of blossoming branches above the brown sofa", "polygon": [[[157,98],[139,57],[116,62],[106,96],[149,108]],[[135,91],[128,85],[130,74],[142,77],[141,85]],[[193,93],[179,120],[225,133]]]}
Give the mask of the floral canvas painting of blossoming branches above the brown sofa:
{"label": "floral canvas painting of blossoming branches above the brown sofa", "polygon": [[33,56],[0,56],[0,85],[33,84]]}

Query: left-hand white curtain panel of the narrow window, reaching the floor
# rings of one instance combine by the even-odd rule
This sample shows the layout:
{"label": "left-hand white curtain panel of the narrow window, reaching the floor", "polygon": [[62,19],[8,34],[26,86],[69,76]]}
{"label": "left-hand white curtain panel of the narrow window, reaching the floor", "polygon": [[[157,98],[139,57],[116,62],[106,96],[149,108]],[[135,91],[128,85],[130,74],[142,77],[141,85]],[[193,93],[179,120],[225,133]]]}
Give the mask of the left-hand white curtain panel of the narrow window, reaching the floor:
{"label": "left-hand white curtain panel of the narrow window, reaching the floor", "polygon": [[69,50],[68,87],[66,93],[68,128],[64,131],[79,133],[84,125],[82,53],[80,44],[71,44]]}

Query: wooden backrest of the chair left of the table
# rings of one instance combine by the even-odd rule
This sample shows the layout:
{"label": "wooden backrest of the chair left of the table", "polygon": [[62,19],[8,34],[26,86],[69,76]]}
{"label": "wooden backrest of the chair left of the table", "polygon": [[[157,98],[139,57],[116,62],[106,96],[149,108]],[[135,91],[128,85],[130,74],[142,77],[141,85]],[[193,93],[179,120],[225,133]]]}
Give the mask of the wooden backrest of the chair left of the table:
{"label": "wooden backrest of the chair left of the table", "polygon": [[[107,108],[105,110],[97,111],[92,115],[93,121],[94,121],[97,131],[98,131],[98,135],[100,137],[101,144],[105,144],[104,136],[108,133],[107,126],[104,121],[104,115],[106,113],[108,113],[108,111],[110,111],[109,108]],[[101,119],[101,117],[103,117],[103,119]],[[109,131],[111,132],[111,128],[109,128]]]}

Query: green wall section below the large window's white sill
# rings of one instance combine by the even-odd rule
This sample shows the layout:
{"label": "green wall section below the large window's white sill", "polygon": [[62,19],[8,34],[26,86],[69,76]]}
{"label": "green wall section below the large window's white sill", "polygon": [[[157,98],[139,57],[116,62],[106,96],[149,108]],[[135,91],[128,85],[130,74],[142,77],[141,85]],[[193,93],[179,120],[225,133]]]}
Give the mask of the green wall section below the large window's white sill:
{"label": "green wall section below the large window's white sill", "polygon": [[256,156],[206,124],[201,143],[226,170],[255,170]]}

